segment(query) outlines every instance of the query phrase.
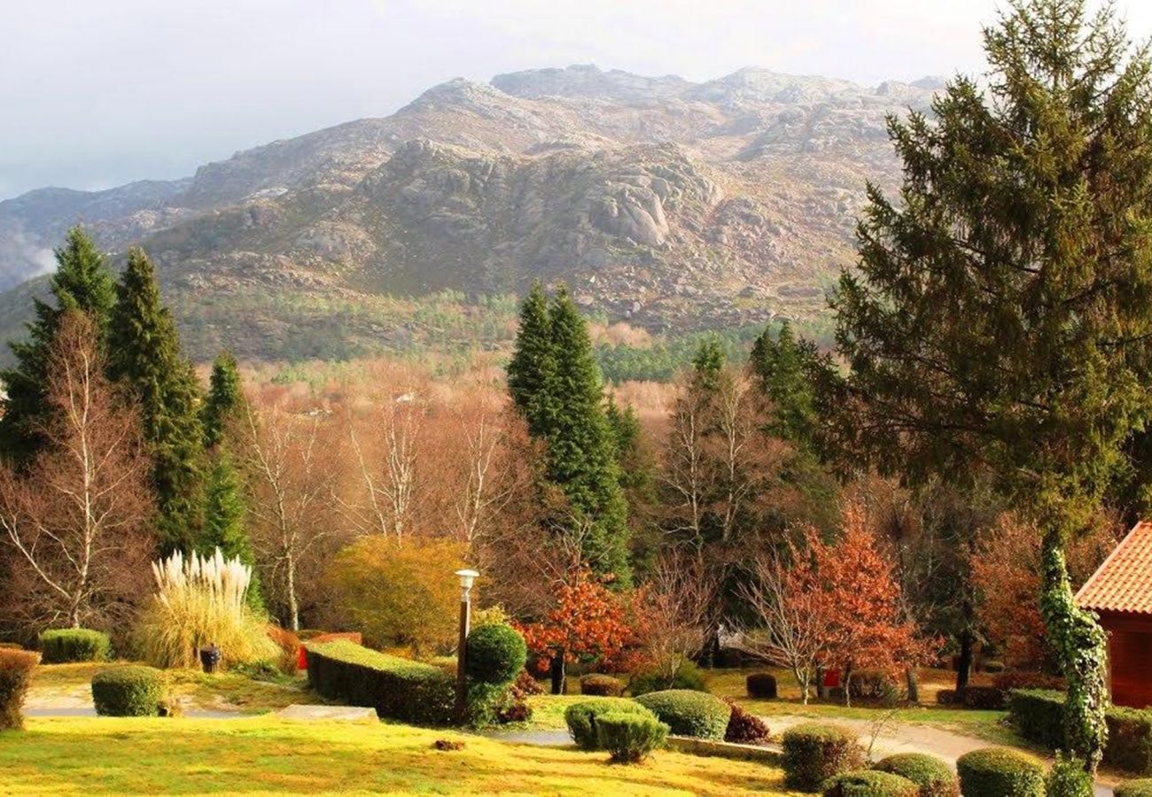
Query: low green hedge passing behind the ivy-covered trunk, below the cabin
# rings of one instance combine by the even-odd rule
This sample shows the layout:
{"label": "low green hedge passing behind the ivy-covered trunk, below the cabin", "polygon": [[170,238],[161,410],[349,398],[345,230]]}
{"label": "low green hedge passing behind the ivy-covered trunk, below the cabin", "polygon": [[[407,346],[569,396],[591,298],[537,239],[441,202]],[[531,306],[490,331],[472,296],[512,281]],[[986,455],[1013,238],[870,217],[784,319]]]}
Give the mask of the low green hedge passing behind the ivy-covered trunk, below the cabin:
{"label": "low green hedge passing behind the ivy-covered trunk, below the cabin", "polygon": [[[1021,736],[1049,750],[1064,745],[1063,692],[1014,689],[1008,693],[1008,713]],[[1104,762],[1139,774],[1152,773],[1152,711],[1112,706],[1105,714],[1108,743]]]}

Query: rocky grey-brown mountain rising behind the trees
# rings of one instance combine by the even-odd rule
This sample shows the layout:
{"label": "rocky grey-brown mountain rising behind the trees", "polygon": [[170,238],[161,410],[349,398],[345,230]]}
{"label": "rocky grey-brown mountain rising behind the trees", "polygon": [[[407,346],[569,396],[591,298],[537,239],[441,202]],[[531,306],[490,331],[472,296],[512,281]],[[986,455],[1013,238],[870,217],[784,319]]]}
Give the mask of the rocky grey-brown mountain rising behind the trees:
{"label": "rocky grey-brown mountain rising behind the trees", "polygon": [[[508,319],[492,321],[488,297],[535,279],[654,332],[814,318],[852,263],[865,181],[899,176],[886,115],[926,109],[940,85],[756,68],[705,83],[592,66],[457,78],[185,180],[0,203],[0,289],[43,274],[83,221],[107,250],[138,242],[157,259],[200,358],[498,344]],[[0,334],[40,289],[0,296]]]}

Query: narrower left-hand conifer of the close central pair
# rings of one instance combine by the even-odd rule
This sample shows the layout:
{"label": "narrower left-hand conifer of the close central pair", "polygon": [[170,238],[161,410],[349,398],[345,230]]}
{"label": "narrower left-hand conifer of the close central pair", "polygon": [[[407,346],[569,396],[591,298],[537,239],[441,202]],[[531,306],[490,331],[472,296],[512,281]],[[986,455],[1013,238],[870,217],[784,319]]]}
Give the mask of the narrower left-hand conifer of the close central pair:
{"label": "narrower left-hand conifer of the close central pair", "polygon": [[554,372],[555,347],[548,298],[540,283],[533,282],[520,308],[520,331],[508,363],[508,392],[535,438],[547,433],[555,413],[551,394]]}

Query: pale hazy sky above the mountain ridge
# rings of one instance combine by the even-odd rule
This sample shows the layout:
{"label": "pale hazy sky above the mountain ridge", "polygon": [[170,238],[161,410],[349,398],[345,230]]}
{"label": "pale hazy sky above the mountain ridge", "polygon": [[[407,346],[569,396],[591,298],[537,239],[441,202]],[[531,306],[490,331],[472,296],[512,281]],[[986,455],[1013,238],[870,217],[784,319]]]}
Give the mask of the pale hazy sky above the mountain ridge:
{"label": "pale hazy sky above the mountain ridge", "polygon": [[[976,73],[995,0],[0,0],[0,198],[191,174],[456,76]],[[1120,0],[1137,38],[1152,2]]]}

